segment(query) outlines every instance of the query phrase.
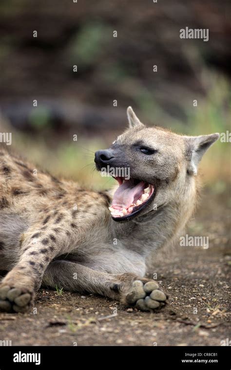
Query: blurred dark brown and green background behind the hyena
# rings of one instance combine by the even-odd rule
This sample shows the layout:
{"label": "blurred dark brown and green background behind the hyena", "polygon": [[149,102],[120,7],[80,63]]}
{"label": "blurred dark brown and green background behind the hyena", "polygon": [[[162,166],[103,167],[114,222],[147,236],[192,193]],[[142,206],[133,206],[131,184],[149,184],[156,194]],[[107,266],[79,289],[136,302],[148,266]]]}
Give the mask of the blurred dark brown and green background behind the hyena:
{"label": "blurred dark brown and green background behind the hyena", "polygon": [[[113,180],[93,170],[94,151],[125,129],[129,105],[147,125],[230,131],[230,8],[228,0],[1,0],[0,131],[53,174],[98,188]],[[209,41],[181,39],[186,26],[208,28]],[[230,154],[218,142],[202,161],[213,193],[227,192]]]}

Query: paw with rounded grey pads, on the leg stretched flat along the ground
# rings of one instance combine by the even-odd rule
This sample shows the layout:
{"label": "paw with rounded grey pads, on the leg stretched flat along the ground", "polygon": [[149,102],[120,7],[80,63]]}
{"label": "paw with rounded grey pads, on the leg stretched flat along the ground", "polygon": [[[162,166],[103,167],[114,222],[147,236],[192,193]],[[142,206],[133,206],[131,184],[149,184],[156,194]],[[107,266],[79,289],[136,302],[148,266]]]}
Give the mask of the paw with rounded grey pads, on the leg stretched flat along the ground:
{"label": "paw with rounded grey pads, on the leg stretched flat along the ground", "polygon": [[152,280],[145,284],[141,280],[133,282],[132,290],[125,297],[126,303],[135,305],[140,311],[151,311],[163,306],[167,296],[159,290],[158,284]]}

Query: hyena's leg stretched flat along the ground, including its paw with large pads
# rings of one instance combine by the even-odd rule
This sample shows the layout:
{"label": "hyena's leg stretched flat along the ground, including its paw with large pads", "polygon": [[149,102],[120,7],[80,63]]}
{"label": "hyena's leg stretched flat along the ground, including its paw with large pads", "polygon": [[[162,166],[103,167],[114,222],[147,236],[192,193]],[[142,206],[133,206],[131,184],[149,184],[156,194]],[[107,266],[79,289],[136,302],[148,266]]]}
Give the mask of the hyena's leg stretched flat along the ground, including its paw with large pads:
{"label": "hyena's leg stretched flat along the ground, including its paw with large pads", "polygon": [[167,296],[154,280],[132,273],[107,274],[71,261],[53,261],[47,267],[43,283],[59,285],[73,292],[96,293],[119,300],[126,306],[150,311],[164,305]]}

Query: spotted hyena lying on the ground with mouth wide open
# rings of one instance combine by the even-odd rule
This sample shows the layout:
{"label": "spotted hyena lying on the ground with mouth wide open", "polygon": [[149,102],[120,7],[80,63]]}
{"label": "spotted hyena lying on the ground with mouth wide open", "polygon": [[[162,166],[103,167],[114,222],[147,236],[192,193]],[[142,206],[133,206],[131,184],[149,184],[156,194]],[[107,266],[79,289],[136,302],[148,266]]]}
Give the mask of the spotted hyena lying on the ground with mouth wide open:
{"label": "spotted hyena lying on the ground with mouth wide open", "polygon": [[[145,127],[128,108],[129,129],[102,168],[129,168],[108,191],[59,180],[0,148],[0,309],[24,312],[41,284],[96,293],[146,311],[166,301],[145,278],[150,253],[169,244],[197,198],[197,166],[217,133],[183,136]],[[116,171],[115,171],[116,174]]]}

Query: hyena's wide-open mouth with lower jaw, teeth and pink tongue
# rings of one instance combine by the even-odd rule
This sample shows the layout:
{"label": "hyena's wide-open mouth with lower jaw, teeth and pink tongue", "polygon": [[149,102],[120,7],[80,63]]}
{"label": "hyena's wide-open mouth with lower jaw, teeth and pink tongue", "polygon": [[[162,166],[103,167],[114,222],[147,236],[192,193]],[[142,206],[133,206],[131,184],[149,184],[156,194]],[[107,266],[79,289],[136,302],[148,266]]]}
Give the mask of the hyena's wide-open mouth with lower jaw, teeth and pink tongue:
{"label": "hyena's wide-open mouth with lower jaw, teeth and pink tongue", "polygon": [[115,221],[130,221],[144,208],[150,206],[155,196],[156,187],[137,179],[126,180],[116,177],[118,188],[109,207]]}

